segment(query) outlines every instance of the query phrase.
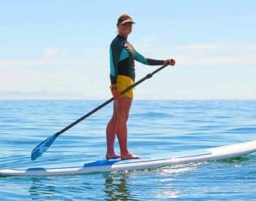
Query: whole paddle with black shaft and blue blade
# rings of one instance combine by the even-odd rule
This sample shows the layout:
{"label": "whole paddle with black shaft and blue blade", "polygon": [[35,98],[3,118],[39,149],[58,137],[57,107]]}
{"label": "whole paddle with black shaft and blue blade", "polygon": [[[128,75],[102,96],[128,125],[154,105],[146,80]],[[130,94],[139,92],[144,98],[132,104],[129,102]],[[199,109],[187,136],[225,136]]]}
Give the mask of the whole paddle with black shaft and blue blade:
{"label": "whole paddle with black shaft and blue blade", "polygon": [[[134,83],[132,86],[129,86],[128,88],[124,89],[124,91],[121,91],[121,95],[127,93],[130,89],[134,88],[135,86],[138,86],[140,83],[142,83],[144,80],[147,80],[148,78],[151,78],[155,73],[159,72],[160,70],[164,69],[167,67],[167,65],[164,65],[162,67],[159,67],[156,69],[154,72],[148,73],[145,77],[142,79],[138,80],[138,82]],[[89,117],[89,115],[92,115],[93,113],[97,112],[97,110],[101,109],[102,107],[105,107],[105,105],[108,105],[110,102],[112,102],[114,99],[111,98],[108,101],[104,102],[102,105],[99,105],[96,107],[94,110],[91,110],[91,112],[87,113],[86,115],[83,115],[81,118],[79,118],[77,121],[74,121],[72,124],[69,124],[69,126],[65,127],[59,132],[56,132],[56,134],[53,134],[52,136],[48,137],[46,140],[42,141],[42,143],[39,143],[33,151],[31,152],[31,160],[34,161],[37,159],[39,156],[42,155],[49,147],[50,145],[56,140],[56,138],[70,129],[72,126],[75,126],[75,124],[78,124],[80,121],[83,121],[83,119]]]}

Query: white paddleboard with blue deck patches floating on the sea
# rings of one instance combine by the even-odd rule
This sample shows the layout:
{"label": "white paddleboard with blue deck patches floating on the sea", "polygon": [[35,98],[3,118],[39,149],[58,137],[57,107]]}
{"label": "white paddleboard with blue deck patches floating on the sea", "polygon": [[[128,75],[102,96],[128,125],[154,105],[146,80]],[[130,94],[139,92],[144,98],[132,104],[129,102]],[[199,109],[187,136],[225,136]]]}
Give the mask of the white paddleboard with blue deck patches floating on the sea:
{"label": "white paddleboard with blue deck patches floating on the sea", "polygon": [[3,176],[51,176],[51,175],[78,175],[91,172],[111,172],[124,170],[146,170],[165,167],[174,164],[188,164],[194,162],[215,161],[244,156],[256,151],[256,140],[246,143],[224,145],[215,148],[204,148],[195,151],[179,151],[167,153],[165,156],[157,154],[142,156],[141,159],[104,159],[88,162],[81,167],[42,168],[34,167],[26,170],[6,169],[0,170]]}

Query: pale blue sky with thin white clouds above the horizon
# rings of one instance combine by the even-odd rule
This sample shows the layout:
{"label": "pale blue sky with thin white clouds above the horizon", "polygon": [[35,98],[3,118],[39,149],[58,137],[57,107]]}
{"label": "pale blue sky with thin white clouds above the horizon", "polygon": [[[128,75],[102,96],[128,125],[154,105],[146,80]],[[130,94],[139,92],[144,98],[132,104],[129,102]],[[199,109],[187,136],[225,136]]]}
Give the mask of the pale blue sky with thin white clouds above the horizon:
{"label": "pale blue sky with thin white clouds above the horizon", "polygon": [[[256,1],[0,0],[0,99],[109,99],[119,15],[143,56],[176,59],[135,99],[256,99]],[[157,67],[136,62],[136,80]]]}

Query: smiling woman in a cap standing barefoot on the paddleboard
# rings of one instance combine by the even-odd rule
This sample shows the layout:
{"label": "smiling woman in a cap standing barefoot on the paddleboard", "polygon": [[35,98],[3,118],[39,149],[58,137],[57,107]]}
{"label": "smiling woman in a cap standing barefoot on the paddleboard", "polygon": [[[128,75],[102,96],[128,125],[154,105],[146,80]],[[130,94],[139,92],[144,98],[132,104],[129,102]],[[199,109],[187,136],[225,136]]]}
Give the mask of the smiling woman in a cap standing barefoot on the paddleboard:
{"label": "smiling woman in a cap standing barefoot on the paddleboard", "polygon": [[[173,59],[156,60],[145,58],[140,55],[132,45],[127,41],[128,35],[132,32],[132,18],[123,14],[118,18],[116,24],[118,35],[110,45],[110,81],[111,92],[114,97],[113,116],[110,119],[107,129],[107,153],[106,159],[139,159],[139,156],[128,151],[127,148],[127,120],[129,118],[129,109],[132,105],[133,89],[126,94],[120,95],[120,92],[131,86],[135,81],[135,61],[146,65],[175,65]],[[117,135],[121,155],[114,151],[114,142]]]}

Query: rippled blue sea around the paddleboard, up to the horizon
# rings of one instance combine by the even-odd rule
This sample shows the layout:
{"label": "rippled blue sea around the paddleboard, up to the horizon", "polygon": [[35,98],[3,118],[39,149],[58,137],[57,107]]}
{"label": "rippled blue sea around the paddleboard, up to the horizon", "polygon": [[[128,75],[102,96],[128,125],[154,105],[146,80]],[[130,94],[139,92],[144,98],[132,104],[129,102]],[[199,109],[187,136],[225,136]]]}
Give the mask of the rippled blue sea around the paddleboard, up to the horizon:
{"label": "rippled blue sea around the paddleboard, up to the horizon", "polygon": [[[83,166],[105,157],[112,103],[31,150],[104,100],[1,100],[0,169]],[[129,151],[140,156],[256,140],[256,100],[135,100]],[[118,144],[116,143],[118,152]],[[0,200],[256,200],[256,153],[154,170],[0,177]]]}

